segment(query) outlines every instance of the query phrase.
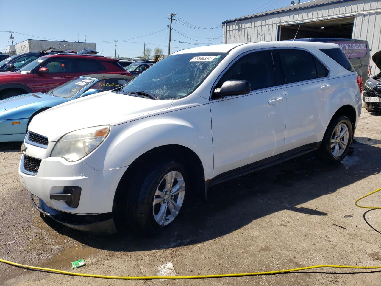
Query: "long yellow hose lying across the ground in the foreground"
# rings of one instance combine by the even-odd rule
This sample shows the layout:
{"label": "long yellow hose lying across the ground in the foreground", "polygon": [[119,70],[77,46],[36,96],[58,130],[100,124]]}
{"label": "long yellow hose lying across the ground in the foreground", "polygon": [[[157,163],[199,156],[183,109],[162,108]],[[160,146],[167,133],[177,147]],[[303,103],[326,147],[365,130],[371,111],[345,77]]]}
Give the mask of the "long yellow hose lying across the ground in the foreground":
{"label": "long yellow hose lying across the ground in the foreground", "polygon": [[[357,199],[355,205],[357,207],[362,207],[364,209],[381,209],[381,207],[364,207],[357,205],[357,202],[361,199],[374,194],[380,189],[373,191],[361,198]],[[216,274],[216,275],[194,275],[194,276],[107,276],[107,275],[95,275],[95,274],[85,274],[85,273],[74,273],[64,270],[44,268],[44,267],[35,267],[30,265],[18,264],[15,262],[11,262],[8,260],[0,259],[0,262],[5,264],[13,265],[16,267],[22,267],[30,270],[42,270],[53,273],[60,273],[71,276],[80,276],[80,277],[93,277],[93,278],[105,278],[105,279],[118,279],[118,280],[155,280],[155,279],[200,279],[200,278],[223,278],[223,277],[238,277],[238,276],[255,276],[255,275],[266,275],[266,274],[277,274],[277,273],[286,273],[286,272],[294,272],[306,269],[314,269],[314,268],[352,268],[352,269],[381,269],[381,266],[351,266],[351,265],[315,265],[315,266],[307,266],[307,267],[299,267],[292,269],[283,269],[283,270],[274,270],[274,271],[265,271],[265,272],[252,272],[252,273],[231,273],[231,274]]]}

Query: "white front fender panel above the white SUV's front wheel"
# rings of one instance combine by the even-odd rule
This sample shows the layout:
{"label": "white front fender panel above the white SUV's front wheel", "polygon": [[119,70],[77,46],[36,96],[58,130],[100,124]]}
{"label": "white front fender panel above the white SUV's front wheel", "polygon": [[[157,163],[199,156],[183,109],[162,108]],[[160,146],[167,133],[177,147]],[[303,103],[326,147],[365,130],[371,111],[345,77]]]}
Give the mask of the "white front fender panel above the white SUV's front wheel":
{"label": "white front fender panel above the white SUV's front wheel", "polygon": [[96,170],[120,168],[165,145],[181,145],[194,151],[202,162],[205,180],[210,179],[213,146],[209,104],[112,126],[106,140],[84,161]]}

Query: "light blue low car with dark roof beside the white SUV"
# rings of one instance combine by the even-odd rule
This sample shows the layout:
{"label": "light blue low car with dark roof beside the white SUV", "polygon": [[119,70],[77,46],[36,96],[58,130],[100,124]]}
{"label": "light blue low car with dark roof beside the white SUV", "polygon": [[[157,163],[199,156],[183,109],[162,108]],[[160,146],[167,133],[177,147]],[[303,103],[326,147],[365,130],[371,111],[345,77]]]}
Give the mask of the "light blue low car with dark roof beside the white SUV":
{"label": "light blue low car with dark roof beside the white SUV", "polygon": [[0,142],[24,141],[29,122],[36,114],[76,98],[121,87],[128,78],[119,74],[86,75],[44,93],[0,100]]}

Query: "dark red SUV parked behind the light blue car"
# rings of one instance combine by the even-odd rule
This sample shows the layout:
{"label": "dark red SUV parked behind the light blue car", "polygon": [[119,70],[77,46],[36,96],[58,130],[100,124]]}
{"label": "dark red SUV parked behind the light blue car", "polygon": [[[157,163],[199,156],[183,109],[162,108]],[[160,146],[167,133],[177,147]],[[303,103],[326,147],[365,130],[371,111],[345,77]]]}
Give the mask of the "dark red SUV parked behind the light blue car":
{"label": "dark red SUV parked behind the light blue car", "polygon": [[86,74],[131,76],[118,59],[67,53],[46,55],[18,72],[0,72],[0,100],[24,93],[45,92]]}

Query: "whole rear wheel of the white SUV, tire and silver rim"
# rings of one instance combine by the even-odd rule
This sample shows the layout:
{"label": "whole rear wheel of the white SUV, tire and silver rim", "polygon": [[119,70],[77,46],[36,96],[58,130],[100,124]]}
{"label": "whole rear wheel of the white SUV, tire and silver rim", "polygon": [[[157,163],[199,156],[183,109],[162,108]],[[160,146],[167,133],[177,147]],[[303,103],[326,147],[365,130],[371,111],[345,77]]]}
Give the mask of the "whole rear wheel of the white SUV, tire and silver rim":
{"label": "whole rear wheel of the white SUV, tire and silver rim", "polygon": [[353,138],[353,127],[346,116],[336,117],[328,125],[318,156],[329,164],[343,161],[347,155]]}

